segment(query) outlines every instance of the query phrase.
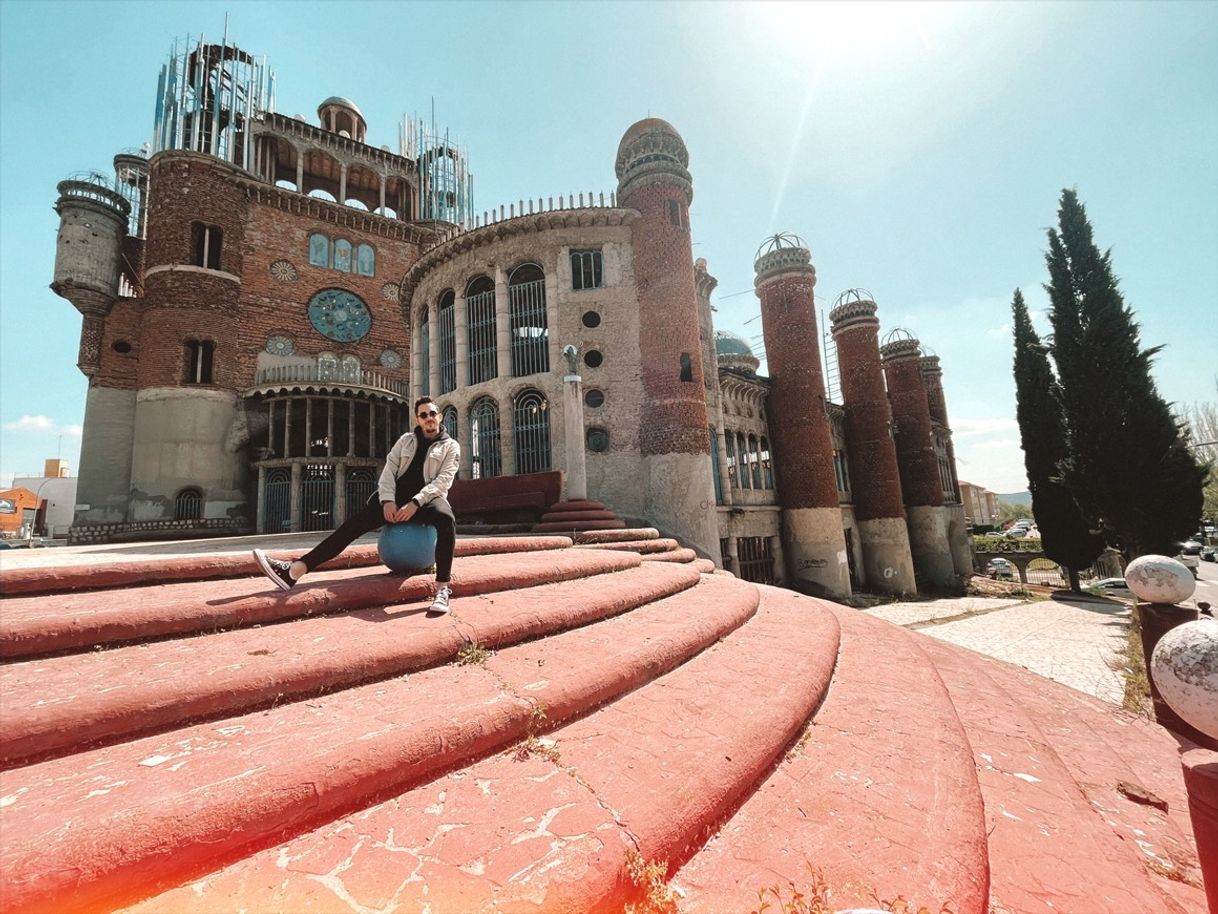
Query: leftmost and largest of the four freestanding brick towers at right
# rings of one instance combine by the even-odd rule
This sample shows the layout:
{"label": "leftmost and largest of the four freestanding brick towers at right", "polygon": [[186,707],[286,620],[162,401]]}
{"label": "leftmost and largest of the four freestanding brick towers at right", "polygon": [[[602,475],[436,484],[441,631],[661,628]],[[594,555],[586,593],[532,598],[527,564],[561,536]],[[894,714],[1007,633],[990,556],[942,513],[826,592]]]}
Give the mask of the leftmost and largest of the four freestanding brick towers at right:
{"label": "leftmost and largest of the four freestanding brick towers at right", "polygon": [[753,285],[761,300],[770,369],[767,416],[787,579],[797,587],[842,597],[850,593],[850,569],[825,406],[811,260],[797,235],[773,235],[758,250]]}

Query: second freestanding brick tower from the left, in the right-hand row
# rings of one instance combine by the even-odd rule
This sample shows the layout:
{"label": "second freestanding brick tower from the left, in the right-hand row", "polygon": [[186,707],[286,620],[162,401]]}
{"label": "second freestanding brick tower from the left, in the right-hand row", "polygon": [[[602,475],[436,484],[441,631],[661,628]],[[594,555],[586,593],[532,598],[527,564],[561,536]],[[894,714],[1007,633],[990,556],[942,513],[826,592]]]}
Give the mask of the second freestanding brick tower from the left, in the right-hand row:
{"label": "second freestanding brick tower from the left, in the right-hand row", "polygon": [[845,442],[859,522],[864,575],[868,586],[884,593],[917,590],[909,530],[901,501],[893,416],[879,363],[879,321],[871,292],[848,289],[829,312],[838,351]]}

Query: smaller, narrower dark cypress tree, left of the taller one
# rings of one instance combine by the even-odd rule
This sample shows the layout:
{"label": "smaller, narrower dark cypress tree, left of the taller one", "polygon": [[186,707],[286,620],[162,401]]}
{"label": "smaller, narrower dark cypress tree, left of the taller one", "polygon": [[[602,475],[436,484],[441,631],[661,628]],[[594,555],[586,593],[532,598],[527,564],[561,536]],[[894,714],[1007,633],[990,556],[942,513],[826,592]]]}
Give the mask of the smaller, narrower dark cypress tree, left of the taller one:
{"label": "smaller, narrower dark cypress tree, left of the taller one", "polygon": [[1078,573],[1090,568],[1104,551],[1104,537],[1091,529],[1062,483],[1060,466],[1067,457],[1066,423],[1060,390],[1049,355],[1037,335],[1023,302],[1015,290],[1011,302],[1015,324],[1016,418],[1023,447],[1023,467],[1032,492],[1032,515],[1040,530],[1040,545],[1054,562],[1065,565],[1069,587],[1080,592]]}

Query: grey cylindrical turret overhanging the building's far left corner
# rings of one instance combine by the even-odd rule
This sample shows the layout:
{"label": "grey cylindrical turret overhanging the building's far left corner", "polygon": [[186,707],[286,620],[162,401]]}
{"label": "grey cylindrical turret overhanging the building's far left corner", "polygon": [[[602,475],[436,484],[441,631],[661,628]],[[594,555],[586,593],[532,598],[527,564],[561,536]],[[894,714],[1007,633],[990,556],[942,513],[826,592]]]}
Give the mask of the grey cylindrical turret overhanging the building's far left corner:
{"label": "grey cylindrical turret overhanging the building's far left corner", "polygon": [[96,173],[73,175],[60,182],[57,190],[60,233],[51,290],[84,317],[77,366],[91,377],[101,367],[105,319],[118,297],[123,236],[132,207]]}

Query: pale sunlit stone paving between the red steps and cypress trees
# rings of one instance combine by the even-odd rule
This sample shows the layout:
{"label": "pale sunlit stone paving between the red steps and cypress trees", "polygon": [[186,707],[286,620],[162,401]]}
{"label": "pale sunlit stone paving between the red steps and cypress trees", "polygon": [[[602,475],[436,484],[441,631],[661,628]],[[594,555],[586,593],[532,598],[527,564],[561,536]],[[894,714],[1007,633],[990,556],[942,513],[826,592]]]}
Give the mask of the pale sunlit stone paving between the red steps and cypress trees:
{"label": "pale sunlit stone paving between the red steps and cypress trees", "polygon": [[1124,697],[1121,658],[1129,603],[1111,598],[1067,603],[962,597],[888,603],[866,612],[1013,663],[1113,704],[1121,704]]}

